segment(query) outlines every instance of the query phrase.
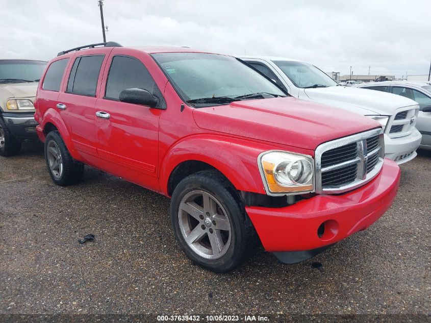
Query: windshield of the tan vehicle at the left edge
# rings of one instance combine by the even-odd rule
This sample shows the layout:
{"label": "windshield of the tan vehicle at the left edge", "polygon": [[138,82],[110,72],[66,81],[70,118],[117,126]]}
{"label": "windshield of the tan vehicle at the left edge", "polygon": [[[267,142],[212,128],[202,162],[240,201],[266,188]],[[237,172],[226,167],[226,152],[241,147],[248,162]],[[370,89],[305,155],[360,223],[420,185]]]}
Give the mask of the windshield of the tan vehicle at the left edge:
{"label": "windshield of the tan vehicle at the left edge", "polygon": [[46,62],[0,60],[0,83],[39,82]]}

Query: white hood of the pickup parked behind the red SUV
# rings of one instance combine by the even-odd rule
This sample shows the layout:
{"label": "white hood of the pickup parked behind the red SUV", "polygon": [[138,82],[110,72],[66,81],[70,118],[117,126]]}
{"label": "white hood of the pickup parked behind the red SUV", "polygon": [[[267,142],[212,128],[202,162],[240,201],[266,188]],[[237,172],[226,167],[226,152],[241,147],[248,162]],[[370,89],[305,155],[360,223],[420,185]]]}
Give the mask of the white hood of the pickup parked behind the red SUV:
{"label": "white hood of the pickup parked behind the red SUV", "polygon": [[407,97],[356,87],[329,86],[305,89],[305,93],[311,101],[363,115],[393,115],[398,108],[417,105],[415,101]]}

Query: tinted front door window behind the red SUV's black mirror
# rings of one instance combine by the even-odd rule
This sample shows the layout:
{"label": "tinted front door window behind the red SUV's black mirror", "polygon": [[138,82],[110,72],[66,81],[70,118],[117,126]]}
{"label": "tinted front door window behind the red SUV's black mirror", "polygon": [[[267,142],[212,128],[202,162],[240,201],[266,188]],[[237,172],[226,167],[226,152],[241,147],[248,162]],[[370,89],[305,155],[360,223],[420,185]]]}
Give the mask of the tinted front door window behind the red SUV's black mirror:
{"label": "tinted front door window behind the red SUV's black mirror", "polygon": [[106,82],[105,98],[118,100],[125,89],[144,89],[160,97],[160,91],[153,77],[137,59],[128,56],[114,56]]}

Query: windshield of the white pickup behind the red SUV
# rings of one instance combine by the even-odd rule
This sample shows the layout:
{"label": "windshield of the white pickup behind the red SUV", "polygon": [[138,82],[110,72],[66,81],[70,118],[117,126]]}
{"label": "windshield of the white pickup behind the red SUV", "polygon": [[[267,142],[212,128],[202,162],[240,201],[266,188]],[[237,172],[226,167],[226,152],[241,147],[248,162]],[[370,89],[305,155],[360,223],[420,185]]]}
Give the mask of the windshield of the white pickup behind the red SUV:
{"label": "windshield of the white pickup behind the red SUV", "polygon": [[336,86],[337,82],[316,66],[305,62],[273,61],[299,88]]}

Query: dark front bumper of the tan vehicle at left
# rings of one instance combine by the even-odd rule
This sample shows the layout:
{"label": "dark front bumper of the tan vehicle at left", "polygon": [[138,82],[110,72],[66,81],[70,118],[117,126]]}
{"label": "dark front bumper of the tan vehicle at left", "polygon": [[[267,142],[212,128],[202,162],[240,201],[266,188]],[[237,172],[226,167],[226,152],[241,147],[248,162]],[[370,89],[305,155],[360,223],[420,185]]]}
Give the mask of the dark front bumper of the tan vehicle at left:
{"label": "dark front bumper of the tan vehicle at left", "polygon": [[3,113],[3,120],[8,130],[19,139],[36,139],[36,126],[34,112],[29,113]]}

